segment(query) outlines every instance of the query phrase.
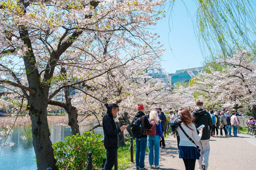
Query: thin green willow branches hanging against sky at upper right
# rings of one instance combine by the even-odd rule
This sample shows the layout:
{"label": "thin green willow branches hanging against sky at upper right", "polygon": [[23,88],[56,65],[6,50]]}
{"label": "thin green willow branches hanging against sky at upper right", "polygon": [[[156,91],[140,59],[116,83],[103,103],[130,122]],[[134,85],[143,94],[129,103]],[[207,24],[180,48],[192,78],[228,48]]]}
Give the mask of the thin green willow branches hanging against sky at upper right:
{"label": "thin green willow branches hanging against sky at upper right", "polygon": [[197,33],[201,49],[210,52],[210,61],[218,56],[231,58],[236,50],[255,53],[256,5],[249,0],[199,0]]}

